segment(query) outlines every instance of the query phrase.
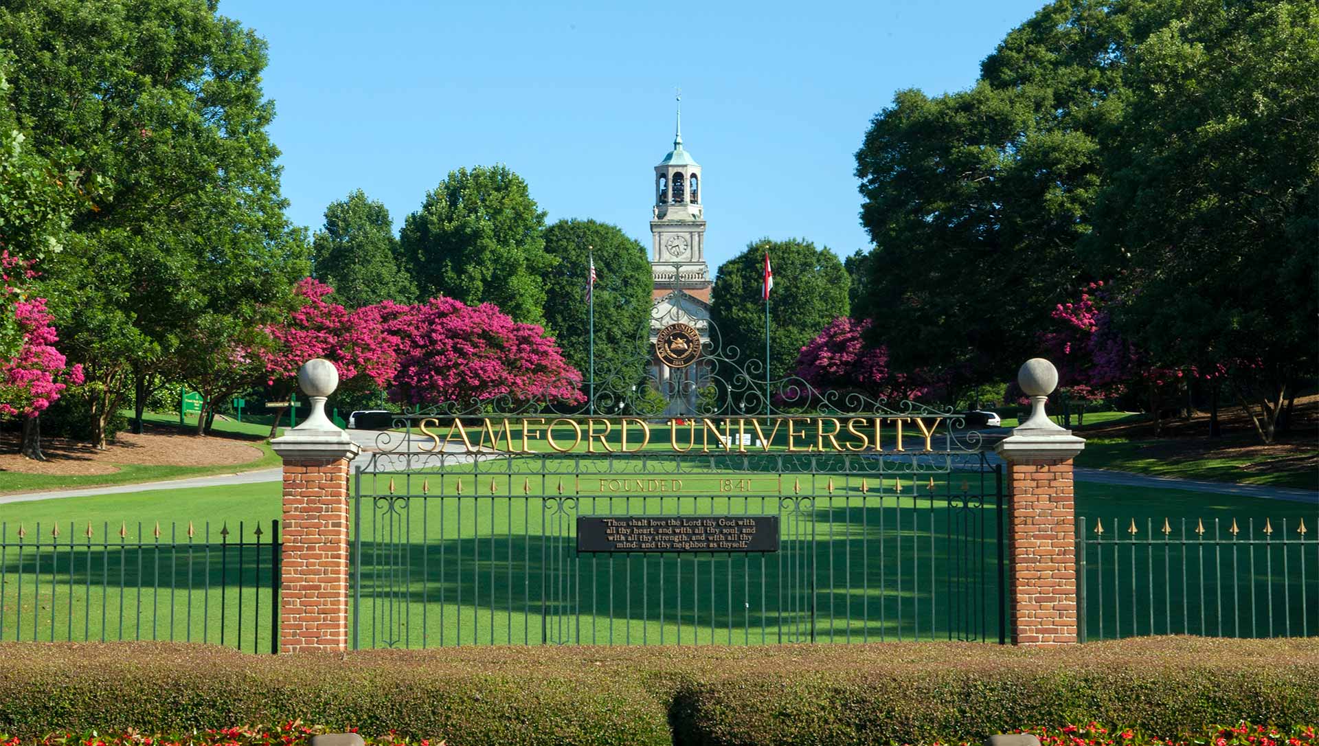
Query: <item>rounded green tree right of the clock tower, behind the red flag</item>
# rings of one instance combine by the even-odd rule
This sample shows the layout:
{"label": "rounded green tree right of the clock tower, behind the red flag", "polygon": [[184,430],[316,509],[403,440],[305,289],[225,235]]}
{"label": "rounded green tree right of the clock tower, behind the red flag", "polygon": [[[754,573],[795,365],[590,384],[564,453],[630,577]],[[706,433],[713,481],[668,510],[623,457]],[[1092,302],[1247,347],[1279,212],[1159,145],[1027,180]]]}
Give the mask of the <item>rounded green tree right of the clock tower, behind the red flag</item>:
{"label": "rounded green tree right of the clock tower, behind the red flag", "polygon": [[769,295],[769,374],[787,376],[797,355],[830,322],[848,315],[847,270],[827,248],[805,239],[752,241],[747,250],[719,266],[711,291],[711,320],[727,349],[736,347],[741,360],[765,356],[765,301],[762,295],[765,252],[774,269]]}

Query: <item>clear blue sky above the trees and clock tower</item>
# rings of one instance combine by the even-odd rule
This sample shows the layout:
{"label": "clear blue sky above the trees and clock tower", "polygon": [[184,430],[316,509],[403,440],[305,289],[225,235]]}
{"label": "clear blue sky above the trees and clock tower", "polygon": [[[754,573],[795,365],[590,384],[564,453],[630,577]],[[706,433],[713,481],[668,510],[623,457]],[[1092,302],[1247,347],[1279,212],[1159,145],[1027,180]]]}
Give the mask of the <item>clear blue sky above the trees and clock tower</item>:
{"label": "clear blue sky above the trees and clock tower", "polygon": [[222,0],[270,45],[294,223],[353,188],[394,228],[459,166],[506,163],[549,220],[649,246],[652,167],[703,167],[711,269],[748,241],[865,246],[853,153],[893,94],[975,82],[1042,0],[343,3]]}

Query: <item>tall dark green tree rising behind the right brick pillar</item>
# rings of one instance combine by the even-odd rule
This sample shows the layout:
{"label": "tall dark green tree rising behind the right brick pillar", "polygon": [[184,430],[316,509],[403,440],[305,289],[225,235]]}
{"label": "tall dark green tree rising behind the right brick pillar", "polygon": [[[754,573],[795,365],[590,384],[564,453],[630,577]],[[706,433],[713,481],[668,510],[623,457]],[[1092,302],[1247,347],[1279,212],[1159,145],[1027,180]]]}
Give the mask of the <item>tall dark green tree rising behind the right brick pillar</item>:
{"label": "tall dark green tree rising behind the right brick pillar", "polygon": [[900,91],[856,153],[876,245],[859,315],[892,364],[963,385],[1038,352],[1050,310],[1089,279],[1075,253],[1100,183],[1099,107],[1132,25],[1116,3],[1058,0],[1012,30],[968,91]]}

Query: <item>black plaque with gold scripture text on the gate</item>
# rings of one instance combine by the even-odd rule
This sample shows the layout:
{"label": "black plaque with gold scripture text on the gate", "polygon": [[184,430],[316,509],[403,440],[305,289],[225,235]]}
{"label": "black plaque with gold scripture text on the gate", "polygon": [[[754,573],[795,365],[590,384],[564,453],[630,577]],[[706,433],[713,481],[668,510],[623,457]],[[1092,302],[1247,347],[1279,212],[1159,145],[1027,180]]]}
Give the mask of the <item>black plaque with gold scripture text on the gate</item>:
{"label": "black plaque with gold scripture text on the gate", "polygon": [[579,515],[579,552],[777,552],[778,515]]}

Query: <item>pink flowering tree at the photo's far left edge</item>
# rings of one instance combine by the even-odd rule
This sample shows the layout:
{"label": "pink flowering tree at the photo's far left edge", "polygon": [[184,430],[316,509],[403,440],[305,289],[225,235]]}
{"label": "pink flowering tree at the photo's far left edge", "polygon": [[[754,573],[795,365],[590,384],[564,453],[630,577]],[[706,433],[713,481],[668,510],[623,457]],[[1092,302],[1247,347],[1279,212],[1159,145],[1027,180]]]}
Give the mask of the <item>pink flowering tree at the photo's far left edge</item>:
{"label": "pink flowering tree at the photo's far left edge", "polygon": [[13,357],[0,359],[0,415],[22,418],[22,455],[45,460],[38,418],[70,384],[83,382],[82,365],[67,366],[55,349],[59,337],[45,298],[12,307],[21,341]]}

